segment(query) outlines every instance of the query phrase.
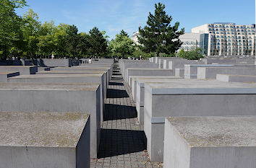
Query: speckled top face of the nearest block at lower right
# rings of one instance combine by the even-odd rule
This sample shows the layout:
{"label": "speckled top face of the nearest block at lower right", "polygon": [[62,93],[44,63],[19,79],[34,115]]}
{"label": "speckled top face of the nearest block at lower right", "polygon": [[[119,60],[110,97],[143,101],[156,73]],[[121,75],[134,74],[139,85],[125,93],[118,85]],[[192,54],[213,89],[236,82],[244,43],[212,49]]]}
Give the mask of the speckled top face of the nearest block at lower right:
{"label": "speckled top face of the nearest block at lower right", "polygon": [[256,146],[256,117],[166,118],[191,147]]}

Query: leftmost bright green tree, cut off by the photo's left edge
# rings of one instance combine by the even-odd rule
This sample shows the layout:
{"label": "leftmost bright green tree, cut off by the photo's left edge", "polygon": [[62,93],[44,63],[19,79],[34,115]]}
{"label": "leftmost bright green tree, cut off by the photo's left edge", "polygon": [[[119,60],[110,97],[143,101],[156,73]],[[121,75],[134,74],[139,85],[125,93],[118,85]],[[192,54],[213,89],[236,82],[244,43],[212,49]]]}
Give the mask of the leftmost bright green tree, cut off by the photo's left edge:
{"label": "leftmost bright green tree, cut off by the photo's left edge", "polygon": [[25,0],[0,1],[0,55],[6,59],[9,52],[20,53],[22,48],[22,19],[17,16],[15,9],[26,5]]}

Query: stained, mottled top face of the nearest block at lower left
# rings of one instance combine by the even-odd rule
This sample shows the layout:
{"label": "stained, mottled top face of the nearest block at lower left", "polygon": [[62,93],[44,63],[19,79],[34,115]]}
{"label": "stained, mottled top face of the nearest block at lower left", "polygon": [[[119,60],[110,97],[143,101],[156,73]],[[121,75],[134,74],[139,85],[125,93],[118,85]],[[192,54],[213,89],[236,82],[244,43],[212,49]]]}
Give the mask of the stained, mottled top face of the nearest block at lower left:
{"label": "stained, mottled top face of the nearest block at lower left", "polygon": [[87,113],[0,112],[0,146],[75,147]]}

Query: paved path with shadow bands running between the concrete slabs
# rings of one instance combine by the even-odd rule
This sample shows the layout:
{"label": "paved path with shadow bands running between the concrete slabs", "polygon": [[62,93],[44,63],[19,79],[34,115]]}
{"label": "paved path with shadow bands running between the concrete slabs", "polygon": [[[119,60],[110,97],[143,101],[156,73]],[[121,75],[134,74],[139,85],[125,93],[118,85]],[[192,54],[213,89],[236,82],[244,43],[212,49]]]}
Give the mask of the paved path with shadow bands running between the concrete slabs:
{"label": "paved path with shadow bands running between the concrete slabs", "polygon": [[115,63],[105,100],[98,159],[91,159],[90,167],[161,167],[150,162],[143,125],[137,123],[135,103],[119,70]]}

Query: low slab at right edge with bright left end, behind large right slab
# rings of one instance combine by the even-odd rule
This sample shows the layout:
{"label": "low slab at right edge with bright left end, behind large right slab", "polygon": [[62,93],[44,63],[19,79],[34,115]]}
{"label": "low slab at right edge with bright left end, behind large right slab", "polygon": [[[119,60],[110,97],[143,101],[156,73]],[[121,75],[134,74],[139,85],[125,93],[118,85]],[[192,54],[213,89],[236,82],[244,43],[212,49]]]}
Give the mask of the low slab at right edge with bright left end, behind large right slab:
{"label": "low slab at right edge with bright left end, behind large right slab", "polygon": [[217,74],[216,79],[218,81],[228,81],[228,82],[244,82],[244,83],[256,82],[256,76],[253,76],[253,75]]}

